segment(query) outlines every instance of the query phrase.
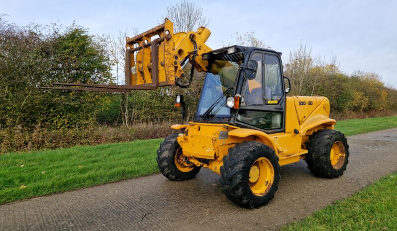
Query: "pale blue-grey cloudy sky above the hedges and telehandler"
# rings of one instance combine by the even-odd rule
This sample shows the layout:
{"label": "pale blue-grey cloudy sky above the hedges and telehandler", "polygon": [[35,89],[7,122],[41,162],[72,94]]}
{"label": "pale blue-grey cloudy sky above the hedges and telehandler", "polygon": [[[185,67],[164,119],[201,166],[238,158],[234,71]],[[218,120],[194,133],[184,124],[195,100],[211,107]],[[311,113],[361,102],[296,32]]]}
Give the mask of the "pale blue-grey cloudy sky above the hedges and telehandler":
{"label": "pale blue-grey cloudy sky above the hedges and telehandler", "polygon": [[[118,34],[138,27],[139,32],[158,24],[170,4],[180,0],[0,0],[0,13],[18,25],[29,22],[64,26],[76,24],[93,34]],[[208,46],[233,42],[236,32],[255,31],[283,56],[300,41],[313,54],[336,56],[340,68],[379,73],[397,88],[396,0],[197,0],[210,19]]]}

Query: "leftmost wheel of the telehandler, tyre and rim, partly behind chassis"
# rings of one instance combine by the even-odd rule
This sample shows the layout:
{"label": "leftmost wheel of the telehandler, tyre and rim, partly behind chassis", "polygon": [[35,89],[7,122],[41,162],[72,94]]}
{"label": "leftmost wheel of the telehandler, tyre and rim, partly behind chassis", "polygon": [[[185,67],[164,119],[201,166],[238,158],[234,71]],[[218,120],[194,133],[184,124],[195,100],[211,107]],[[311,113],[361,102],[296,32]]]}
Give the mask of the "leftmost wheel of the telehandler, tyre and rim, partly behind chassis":
{"label": "leftmost wheel of the telehandler, tyre and rim, partly behind chassis", "polygon": [[165,138],[157,150],[157,166],[160,172],[172,180],[187,180],[195,177],[200,167],[189,163],[177,141],[178,134]]}

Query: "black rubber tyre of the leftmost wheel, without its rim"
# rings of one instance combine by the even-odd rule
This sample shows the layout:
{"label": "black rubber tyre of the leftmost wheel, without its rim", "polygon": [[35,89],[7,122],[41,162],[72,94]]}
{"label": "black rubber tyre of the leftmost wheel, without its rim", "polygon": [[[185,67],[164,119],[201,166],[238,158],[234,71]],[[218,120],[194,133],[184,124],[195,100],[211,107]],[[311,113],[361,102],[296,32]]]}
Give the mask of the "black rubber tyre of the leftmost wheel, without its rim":
{"label": "black rubber tyre of the leftmost wheel, without its rim", "polygon": [[178,133],[172,134],[160,144],[160,148],[157,150],[157,166],[160,172],[171,180],[188,180],[195,177],[201,167],[194,166],[190,172],[182,172],[177,168],[175,155],[181,147],[177,141],[177,137]]}

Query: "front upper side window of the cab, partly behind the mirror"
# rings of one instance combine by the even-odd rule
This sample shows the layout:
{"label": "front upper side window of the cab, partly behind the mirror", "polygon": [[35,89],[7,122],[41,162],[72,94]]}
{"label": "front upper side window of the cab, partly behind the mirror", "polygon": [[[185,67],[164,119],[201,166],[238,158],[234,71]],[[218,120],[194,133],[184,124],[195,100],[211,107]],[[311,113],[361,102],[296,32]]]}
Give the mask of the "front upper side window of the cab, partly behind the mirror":
{"label": "front upper side window of the cab, partly behind the mirror", "polygon": [[251,60],[258,62],[255,79],[246,80],[242,91],[241,105],[263,104],[262,53],[254,53]]}

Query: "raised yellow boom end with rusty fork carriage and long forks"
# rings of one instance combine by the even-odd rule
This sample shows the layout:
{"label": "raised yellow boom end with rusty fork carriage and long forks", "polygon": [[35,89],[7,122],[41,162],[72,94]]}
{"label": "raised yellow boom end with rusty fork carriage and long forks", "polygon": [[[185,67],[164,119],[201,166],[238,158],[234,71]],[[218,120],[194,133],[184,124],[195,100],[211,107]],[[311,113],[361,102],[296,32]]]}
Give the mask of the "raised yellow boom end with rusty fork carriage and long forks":
{"label": "raised yellow boom end with rusty fork carriage and long forks", "polygon": [[[134,89],[157,89],[176,85],[176,78],[185,76],[183,68],[194,59],[195,68],[206,71],[208,62],[202,60],[203,53],[211,49],[205,45],[211,32],[200,27],[196,32],[174,34],[174,24],[164,23],[133,38],[126,38],[125,79],[126,85],[53,83],[61,86],[47,89],[64,89],[96,92],[129,92]],[[195,49],[195,44],[197,49]],[[80,88],[85,87],[85,88]]]}

